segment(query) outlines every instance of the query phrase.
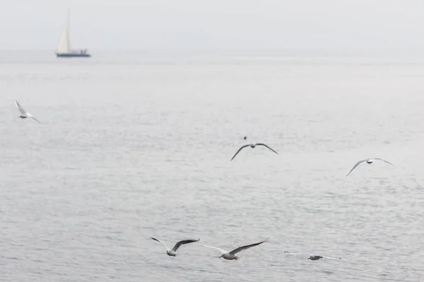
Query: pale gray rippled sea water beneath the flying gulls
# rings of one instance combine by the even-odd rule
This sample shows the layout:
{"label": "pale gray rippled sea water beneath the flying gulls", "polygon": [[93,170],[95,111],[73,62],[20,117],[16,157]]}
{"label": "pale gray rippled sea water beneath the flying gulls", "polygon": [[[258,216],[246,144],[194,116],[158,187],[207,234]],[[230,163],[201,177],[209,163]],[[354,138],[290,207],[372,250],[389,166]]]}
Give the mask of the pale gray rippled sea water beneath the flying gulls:
{"label": "pale gray rippled sea water beneath the flying gulls", "polygon": [[[2,54],[0,281],[423,281],[423,78],[406,57]],[[278,154],[230,161],[248,142]],[[395,166],[346,177],[368,157]],[[228,261],[150,236],[268,240]]]}

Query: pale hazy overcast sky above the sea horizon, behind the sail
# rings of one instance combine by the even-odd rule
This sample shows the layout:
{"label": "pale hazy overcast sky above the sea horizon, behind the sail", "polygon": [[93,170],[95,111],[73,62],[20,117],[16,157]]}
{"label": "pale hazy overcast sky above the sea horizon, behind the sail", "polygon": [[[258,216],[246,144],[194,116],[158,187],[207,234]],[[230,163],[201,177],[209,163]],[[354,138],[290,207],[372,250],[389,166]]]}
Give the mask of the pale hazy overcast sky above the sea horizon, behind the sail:
{"label": "pale hazy overcast sky above the sea horizon, behind the sail", "polygon": [[420,49],[423,0],[3,0],[0,49]]}

